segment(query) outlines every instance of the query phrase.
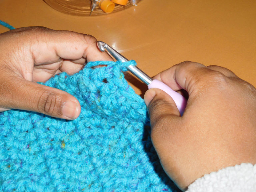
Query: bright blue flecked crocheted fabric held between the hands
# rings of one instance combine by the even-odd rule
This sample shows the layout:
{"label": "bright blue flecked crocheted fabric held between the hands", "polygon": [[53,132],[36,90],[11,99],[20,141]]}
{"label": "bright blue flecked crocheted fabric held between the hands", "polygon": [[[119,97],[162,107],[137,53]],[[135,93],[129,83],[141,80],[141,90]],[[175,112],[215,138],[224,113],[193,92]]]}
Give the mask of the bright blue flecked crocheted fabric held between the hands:
{"label": "bright blue flecked crocheted fabric held between the hands", "polygon": [[131,62],[90,62],[45,83],[79,100],[75,120],[0,113],[0,191],[178,191],[152,146],[145,104],[121,72]]}

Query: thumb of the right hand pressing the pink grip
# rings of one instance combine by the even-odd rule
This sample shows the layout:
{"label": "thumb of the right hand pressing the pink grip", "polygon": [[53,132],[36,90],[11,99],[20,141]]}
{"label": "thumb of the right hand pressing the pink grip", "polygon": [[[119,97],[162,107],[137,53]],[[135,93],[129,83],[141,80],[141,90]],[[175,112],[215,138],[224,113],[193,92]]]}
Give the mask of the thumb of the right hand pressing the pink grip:
{"label": "thumb of the right hand pressing the pink grip", "polygon": [[[173,99],[164,91],[156,88],[149,89],[144,95],[144,101],[150,117],[151,140],[159,156],[163,168],[166,168],[166,157],[172,153],[170,143],[183,130],[181,126],[181,117],[179,110]],[[168,166],[167,166],[168,167]],[[169,175],[171,176],[171,175]]]}

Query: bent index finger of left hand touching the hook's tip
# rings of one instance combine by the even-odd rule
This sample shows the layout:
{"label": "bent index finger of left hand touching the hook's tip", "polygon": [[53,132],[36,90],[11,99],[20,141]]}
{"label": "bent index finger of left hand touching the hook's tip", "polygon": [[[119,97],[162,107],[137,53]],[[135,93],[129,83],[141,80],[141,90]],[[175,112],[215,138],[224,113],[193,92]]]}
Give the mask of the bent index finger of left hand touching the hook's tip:
{"label": "bent index finger of left hand touching the hook's tip", "polygon": [[[59,58],[87,61],[112,60],[97,47],[97,40],[91,35],[71,31],[55,31],[37,29],[36,42],[32,44],[35,64],[47,64],[58,61]],[[46,34],[46,35],[45,35]],[[34,38],[35,39],[35,38]]]}

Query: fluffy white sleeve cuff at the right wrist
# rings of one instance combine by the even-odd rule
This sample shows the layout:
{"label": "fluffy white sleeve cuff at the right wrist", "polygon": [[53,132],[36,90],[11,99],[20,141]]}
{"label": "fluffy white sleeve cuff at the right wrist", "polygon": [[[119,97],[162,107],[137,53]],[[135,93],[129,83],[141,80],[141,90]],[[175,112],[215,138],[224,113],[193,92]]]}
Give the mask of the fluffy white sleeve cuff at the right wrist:
{"label": "fluffy white sleeve cuff at the right wrist", "polygon": [[204,175],[186,192],[256,192],[256,164],[242,163]]}

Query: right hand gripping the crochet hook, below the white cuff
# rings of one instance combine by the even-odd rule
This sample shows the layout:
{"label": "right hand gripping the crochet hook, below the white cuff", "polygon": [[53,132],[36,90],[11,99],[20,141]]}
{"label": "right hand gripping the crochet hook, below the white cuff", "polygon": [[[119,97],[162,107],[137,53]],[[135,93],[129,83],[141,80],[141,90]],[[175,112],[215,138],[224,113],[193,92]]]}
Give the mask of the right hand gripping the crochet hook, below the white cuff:
{"label": "right hand gripping the crochet hook, below the white cuff", "polygon": [[256,164],[256,89],[251,84],[226,68],[194,62],[177,64],[155,79],[188,93],[182,117],[160,89],[144,96],[152,143],[180,189],[221,168]]}

